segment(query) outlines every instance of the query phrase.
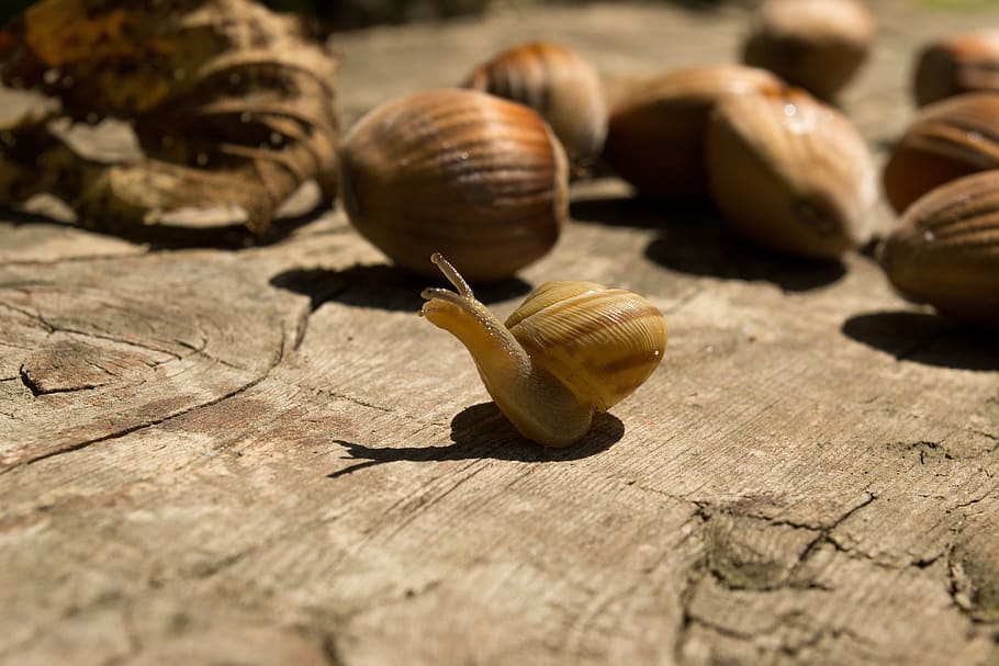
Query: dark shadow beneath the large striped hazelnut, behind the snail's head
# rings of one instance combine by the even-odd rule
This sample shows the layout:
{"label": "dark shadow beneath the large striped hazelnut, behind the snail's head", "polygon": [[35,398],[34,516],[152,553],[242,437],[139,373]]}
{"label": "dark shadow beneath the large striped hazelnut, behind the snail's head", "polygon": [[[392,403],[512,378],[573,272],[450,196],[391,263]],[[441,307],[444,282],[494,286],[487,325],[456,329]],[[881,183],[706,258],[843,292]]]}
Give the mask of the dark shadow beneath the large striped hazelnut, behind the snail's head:
{"label": "dark shadow beneath the large striped hazelnut, behind the snail's head", "polygon": [[[272,276],[270,283],[308,296],[313,312],[328,301],[355,307],[418,312],[424,303],[419,292],[425,287],[450,287],[444,276],[440,280],[428,280],[389,264],[358,264],[339,271],[322,268],[291,269]],[[474,290],[480,301],[494,303],[523,296],[531,286],[519,278],[510,278],[492,284],[475,285]]]}

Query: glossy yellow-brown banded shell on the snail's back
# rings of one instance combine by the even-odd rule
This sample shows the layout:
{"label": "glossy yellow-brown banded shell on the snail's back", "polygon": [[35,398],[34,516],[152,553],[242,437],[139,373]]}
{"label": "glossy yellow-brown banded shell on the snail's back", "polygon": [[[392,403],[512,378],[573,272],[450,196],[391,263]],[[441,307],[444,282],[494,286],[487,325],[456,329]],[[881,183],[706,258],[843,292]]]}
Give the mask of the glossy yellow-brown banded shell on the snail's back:
{"label": "glossy yellow-brown banded shell on the snail's back", "polygon": [[666,324],[646,298],[592,282],[547,282],[506,320],[531,361],[606,411],[659,366]]}

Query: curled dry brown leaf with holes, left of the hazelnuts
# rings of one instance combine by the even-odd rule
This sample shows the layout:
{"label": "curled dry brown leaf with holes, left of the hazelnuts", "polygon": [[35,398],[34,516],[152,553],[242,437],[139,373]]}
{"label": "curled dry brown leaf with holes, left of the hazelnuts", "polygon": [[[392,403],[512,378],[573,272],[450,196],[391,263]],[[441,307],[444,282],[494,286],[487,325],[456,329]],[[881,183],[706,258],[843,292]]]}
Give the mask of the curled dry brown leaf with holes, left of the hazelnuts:
{"label": "curled dry brown leaf with holes, left of the hazelnuts", "polygon": [[[335,194],[335,74],[295,18],[249,0],[42,0],[0,31],[0,80],[59,108],[0,126],[0,203],[46,192],[121,233],[242,210],[262,234],[303,182]],[[108,117],[132,124],[141,158],[85,157],[59,123]]]}

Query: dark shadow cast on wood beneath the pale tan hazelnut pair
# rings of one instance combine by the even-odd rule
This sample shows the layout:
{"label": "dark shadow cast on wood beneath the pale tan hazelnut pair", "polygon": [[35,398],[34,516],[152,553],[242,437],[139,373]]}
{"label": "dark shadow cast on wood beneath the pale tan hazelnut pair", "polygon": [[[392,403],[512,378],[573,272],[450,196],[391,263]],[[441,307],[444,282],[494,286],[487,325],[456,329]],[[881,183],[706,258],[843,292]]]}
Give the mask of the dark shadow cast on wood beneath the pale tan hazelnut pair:
{"label": "dark shadow cast on wood beneath the pale tan hazelnut pair", "polygon": [[681,273],[762,280],[787,292],[827,286],[846,274],[841,261],[807,260],[760,249],[729,228],[709,204],[617,196],[581,201],[573,205],[572,215],[584,223],[659,229],[646,257]]}

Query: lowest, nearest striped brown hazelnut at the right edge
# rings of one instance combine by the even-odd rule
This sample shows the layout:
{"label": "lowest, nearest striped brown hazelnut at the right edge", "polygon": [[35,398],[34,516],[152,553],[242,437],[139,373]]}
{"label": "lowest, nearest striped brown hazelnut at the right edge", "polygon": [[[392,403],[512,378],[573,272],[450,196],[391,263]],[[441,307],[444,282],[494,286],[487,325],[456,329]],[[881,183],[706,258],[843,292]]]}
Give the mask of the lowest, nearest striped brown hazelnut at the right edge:
{"label": "lowest, nearest striped brown hazelnut at the right edge", "polygon": [[999,171],[957,179],[919,199],[878,258],[910,297],[961,319],[999,324]]}

